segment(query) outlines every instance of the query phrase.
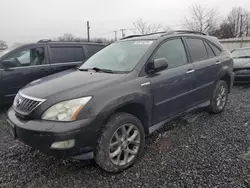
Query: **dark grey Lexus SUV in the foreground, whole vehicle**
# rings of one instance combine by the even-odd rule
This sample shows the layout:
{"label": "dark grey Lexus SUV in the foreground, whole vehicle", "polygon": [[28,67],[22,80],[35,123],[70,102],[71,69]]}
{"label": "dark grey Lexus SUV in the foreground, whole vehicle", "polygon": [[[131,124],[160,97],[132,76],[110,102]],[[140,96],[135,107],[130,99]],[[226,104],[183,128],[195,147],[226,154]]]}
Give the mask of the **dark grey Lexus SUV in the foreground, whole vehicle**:
{"label": "dark grey Lexus SUV in the foreground, whole vehicle", "polygon": [[171,31],[129,36],[78,69],[22,88],[8,111],[15,138],[57,157],[119,172],[145,136],[194,109],[224,110],[233,60],[217,38]]}

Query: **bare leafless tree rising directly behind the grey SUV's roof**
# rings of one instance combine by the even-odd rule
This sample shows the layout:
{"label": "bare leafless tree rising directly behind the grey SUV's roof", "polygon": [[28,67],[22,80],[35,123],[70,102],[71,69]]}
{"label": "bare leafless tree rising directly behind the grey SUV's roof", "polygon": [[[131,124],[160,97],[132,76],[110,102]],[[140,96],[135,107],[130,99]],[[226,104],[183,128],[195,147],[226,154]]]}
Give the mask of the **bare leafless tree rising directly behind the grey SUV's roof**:
{"label": "bare leafless tree rising directly behind the grey SUV's roof", "polygon": [[190,17],[185,17],[185,23],[192,31],[210,34],[216,30],[217,16],[218,12],[214,8],[193,4],[190,7]]}

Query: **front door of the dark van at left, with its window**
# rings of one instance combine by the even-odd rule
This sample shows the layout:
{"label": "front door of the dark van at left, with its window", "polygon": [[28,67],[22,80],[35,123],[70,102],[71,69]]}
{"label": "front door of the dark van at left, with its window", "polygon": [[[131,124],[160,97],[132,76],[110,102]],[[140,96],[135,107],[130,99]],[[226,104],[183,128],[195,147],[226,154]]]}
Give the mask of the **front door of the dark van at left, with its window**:
{"label": "front door of the dark van at left, with its window", "polygon": [[50,74],[45,45],[20,48],[1,60],[4,103],[13,101],[19,89]]}

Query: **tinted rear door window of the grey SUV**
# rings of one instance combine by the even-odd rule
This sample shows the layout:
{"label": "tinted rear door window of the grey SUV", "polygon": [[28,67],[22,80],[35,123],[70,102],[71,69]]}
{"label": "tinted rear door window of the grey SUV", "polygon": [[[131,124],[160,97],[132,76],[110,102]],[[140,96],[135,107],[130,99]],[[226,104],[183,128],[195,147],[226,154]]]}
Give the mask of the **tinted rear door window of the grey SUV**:
{"label": "tinted rear door window of the grey SUV", "polygon": [[187,44],[194,62],[207,59],[207,51],[202,40],[188,38]]}

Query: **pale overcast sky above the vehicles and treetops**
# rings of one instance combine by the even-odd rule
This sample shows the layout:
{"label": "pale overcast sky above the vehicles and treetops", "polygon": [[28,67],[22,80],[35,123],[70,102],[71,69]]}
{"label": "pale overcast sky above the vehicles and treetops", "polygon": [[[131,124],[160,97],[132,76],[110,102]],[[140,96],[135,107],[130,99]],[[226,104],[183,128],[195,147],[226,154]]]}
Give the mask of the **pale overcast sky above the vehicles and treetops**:
{"label": "pale overcast sky above the vehicles and treetops", "polygon": [[234,6],[250,10],[250,0],[0,0],[0,40],[33,42],[64,33],[86,37],[88,20],[91,37],[113,37],[114,30],[133,28],[138,18],[175,29],[195,2],[219,9],[221,16]]}

